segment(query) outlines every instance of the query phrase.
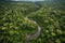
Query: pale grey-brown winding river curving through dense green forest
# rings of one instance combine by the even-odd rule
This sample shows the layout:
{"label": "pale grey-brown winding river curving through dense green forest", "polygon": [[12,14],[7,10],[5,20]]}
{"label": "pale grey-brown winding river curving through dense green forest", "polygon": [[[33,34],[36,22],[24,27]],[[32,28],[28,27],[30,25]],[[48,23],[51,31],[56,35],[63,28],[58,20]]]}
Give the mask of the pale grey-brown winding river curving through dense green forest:
{"label": "pale grey-brown winding river curving through dense green forest", "polygon": [[[30,20],[30,22],[32,22],[32,20]],[[37,24],[36,22],[32,22],[32,23]],[[38,24],[37,24],[37,25],[38,25]],[[37,32],[36,32],[35,34],[28,33],[28,34],[26,35],[26,38],[25,38],[25,43],[30,43],[30,40],[37,39],[37,38],[40,35],[40,33],[41,33],[41,27],[38,25],[38,28],[37,28],[37,29],[38,29],[38,30],[37,30]]]}

